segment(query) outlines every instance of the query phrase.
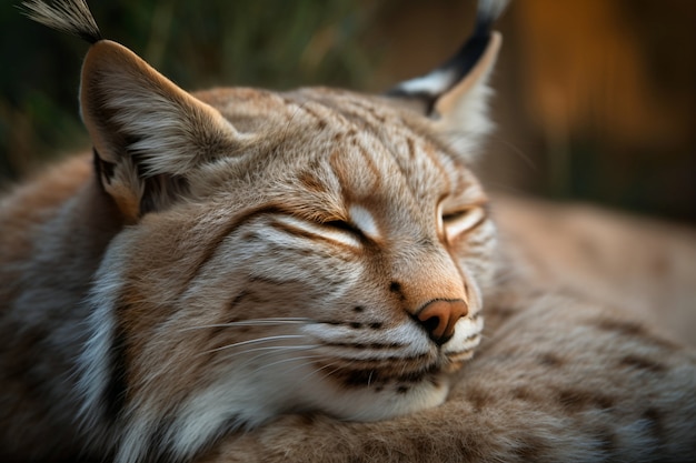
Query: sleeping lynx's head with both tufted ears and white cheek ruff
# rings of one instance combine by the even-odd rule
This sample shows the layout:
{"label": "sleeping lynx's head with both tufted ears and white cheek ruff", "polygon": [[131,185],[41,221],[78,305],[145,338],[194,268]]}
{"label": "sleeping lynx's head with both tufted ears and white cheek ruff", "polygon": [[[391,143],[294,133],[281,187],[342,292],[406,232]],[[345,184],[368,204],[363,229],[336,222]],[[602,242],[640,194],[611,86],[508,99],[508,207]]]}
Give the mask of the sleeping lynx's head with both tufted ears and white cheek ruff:
{"label": "sleeping lynx's head with both tufted ears and white cheek ruff", "polygon": [[81,0],[28,7],[92,42],[82,117],[123,228],[79,374],[118,461],[188,457],[281,413],[379,420],[445,401],[493,279],[468,167],[489,128],[495,2],[457,56],[386,95],[190,94],[101,40]]}

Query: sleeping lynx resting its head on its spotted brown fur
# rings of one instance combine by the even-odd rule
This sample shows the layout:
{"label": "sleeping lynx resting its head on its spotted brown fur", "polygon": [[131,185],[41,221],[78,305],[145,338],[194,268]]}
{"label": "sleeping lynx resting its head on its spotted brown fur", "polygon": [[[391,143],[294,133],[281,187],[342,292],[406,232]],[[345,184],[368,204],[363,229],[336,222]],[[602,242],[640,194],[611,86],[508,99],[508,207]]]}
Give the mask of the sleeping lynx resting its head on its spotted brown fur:
{"label": "sleeping lynx resting its head on its spotted brown fur", "polygon": [[694,351],[496,231],[499,2],[385,95],[188,93],[83,0],[24,7],[91,43],[93,150],[0,203],[0,460],[694,459]]}

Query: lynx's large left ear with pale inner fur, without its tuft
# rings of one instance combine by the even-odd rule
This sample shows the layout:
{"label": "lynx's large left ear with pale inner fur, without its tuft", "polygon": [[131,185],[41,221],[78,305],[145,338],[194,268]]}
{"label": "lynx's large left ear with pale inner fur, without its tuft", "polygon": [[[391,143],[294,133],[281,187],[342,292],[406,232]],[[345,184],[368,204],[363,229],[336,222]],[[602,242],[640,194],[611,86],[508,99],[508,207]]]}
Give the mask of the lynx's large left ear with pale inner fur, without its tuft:
{"label": "lynx's large left ear with pale inner fur, without its tuft", "polygon": [[239,144],[217,110],[108,40],[88,51],[80,104],[101,183],[130,221],[167,207],[191,168]]}

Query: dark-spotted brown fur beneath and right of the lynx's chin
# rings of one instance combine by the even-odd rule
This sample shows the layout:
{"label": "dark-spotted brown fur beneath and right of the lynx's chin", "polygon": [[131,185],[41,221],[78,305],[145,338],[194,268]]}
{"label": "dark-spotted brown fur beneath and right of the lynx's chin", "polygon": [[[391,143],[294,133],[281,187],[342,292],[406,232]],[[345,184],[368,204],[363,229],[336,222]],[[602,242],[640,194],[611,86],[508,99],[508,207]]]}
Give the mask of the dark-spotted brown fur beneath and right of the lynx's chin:
{"label": "dark-spotted brown fur beneath and right of the lynx's chin", "polygon": [[517,314],[488,331],[444,405],[382,423],[287,416],[200,462],[689,461],[694,353],[627,332],[625,313],[525,293],[489,301]]}

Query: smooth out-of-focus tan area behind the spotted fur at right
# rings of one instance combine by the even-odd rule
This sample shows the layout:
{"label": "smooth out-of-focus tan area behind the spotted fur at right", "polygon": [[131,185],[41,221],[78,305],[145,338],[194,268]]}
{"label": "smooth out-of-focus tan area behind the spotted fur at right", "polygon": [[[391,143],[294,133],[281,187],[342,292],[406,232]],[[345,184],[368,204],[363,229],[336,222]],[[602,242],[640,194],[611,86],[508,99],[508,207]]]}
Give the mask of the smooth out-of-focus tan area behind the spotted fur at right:
{"label": "smooth out-of-focus tan area behind the spotted fur at right", "polygon": [[696,232],[587,204],[499,197],[505,240],[537,284],[620,306],[696,346]]}

